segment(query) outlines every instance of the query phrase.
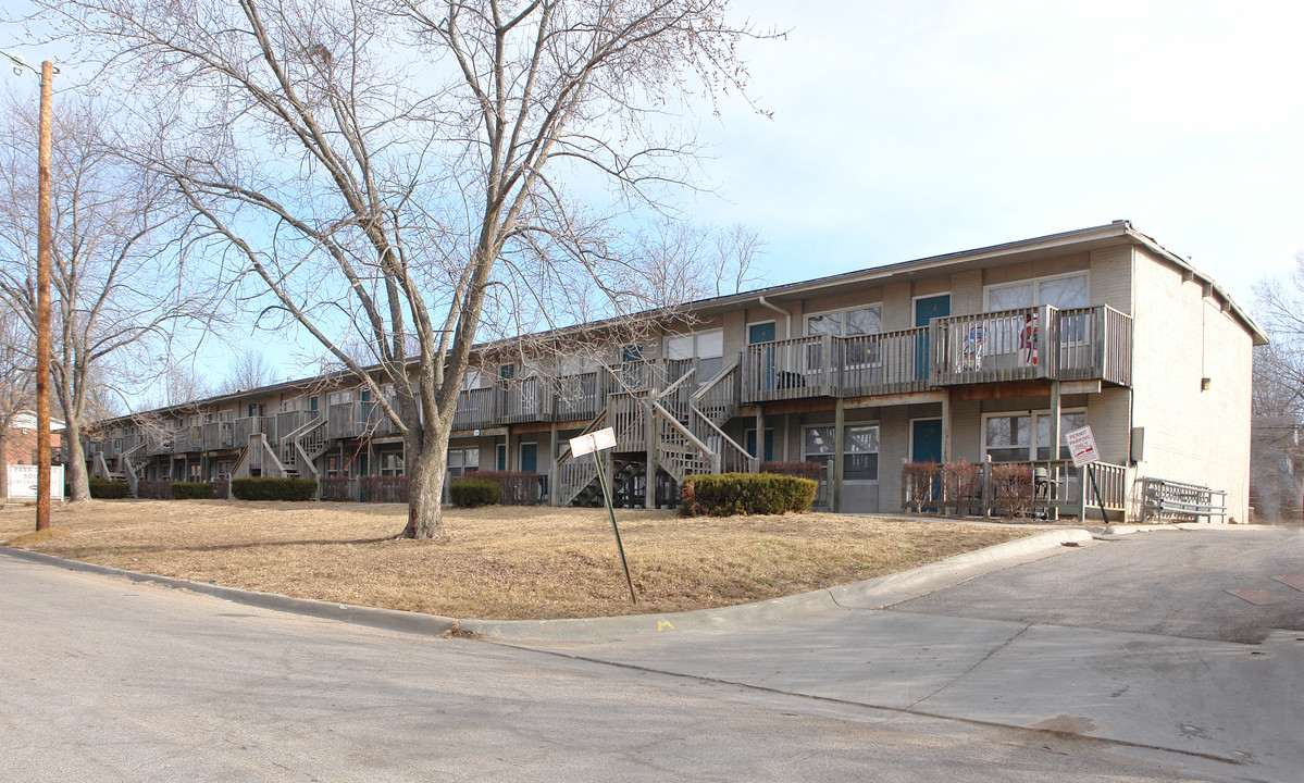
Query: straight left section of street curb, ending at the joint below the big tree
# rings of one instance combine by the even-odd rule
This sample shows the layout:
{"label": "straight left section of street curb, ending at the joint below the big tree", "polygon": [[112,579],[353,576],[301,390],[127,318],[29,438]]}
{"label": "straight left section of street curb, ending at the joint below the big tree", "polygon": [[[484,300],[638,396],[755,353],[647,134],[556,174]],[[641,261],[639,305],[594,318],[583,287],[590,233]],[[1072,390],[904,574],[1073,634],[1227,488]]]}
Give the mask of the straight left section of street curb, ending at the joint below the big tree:
{"label": "straight left section of street curb, ending at the joint below the big tree", "polygon": [[256,590],[241,590],[240,588],[223,588],[220,585],[206,585],[203,582],[188,582],[185,580],[167,576],[137,573],[134,571],[123,571],[121,568],[110,568],[108,565],[65,560],[64,558],[56,558],[55,555],[46,555],[42,552],[31,552],[12,547],[0,547],[0,554],[9,555],[10,558],[18,560],[59,565],[69,571],[123,576],[133,582],[154,582],[168,588],[190,590],[192,593],[203,593],[205,595],[223,598],[245,606],[258,606],[262,608],[292,612],[296,615],[308,615],[326,620],[339,620],[342,623],[385,628],[387,631],[404,631],[408,633],[442,636],[449,632],[449,629],[458,625],[458,621],[452,618],[441,618],[438,615],[422,615],[420,612],[406,612],[394,608],[376,608],[370,606],[353,606],[349,603],[331,603],[329,601],[317,601],[314,598],[291,598],[289,595],[278,595],[275,593],[258,593]]}

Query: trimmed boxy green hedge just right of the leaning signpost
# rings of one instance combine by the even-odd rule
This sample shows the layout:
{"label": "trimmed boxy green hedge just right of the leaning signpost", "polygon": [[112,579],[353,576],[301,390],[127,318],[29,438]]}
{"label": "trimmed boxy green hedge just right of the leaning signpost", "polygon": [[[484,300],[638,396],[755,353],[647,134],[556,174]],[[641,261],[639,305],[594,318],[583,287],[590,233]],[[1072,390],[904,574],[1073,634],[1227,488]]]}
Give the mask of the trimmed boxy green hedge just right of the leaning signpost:
{"label": "trimmed boxy green hedge just right of the leaning signpost", "polygon": [[682,516],[734,516],[808,511],[816,483],[777,473],[724,473],[683,479]]}

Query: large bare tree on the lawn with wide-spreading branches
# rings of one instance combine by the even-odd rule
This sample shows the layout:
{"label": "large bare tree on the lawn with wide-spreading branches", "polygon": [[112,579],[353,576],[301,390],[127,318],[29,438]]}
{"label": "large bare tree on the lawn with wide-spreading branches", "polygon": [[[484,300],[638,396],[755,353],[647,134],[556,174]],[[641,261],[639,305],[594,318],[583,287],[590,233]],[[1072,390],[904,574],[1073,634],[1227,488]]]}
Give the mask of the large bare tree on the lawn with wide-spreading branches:
{"label": "large bare tree on the lawn with wide-spreading branches", "polygon": [[748,33],[724,0],[37,5],[162,120],[142,159],[188,199],[190,241],[256,284],[241,294],[265,292],[263,326],[296,324],[370,388],[406,440],[415,538],[442,534],[482,320],[556,322],[591,292],[640,309],[612,207],[582,208],[567,184],[664,198],[696,151],[675,102],[746,81]]}

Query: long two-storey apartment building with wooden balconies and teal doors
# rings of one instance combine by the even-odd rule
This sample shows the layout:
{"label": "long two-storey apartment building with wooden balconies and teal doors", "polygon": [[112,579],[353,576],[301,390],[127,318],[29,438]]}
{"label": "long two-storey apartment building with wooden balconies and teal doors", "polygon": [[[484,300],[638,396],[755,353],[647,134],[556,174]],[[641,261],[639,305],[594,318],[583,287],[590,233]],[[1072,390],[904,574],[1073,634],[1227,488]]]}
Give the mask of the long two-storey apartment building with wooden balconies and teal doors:
{"label": "long two-storey apartment building with wooden balconies and teal doors", "polygon": [[[673,504],[690,473],[814,461],[833,509],[893,512],[902,463],[961,459],[1038,463],[1080,503],[1064,435],[1090,425],[1107,508],[1138,519],[1150,477],[1226,491],[1244,521],[1251,349],[1265,343],[1217,283],[1115,221],[692,302],[655,337],[610,336],[584,357],[481,345],[449,466],[537,474],[548,500],[592,503],[592,463],[566,444],[610,426],[626,504],[647,503],[648,485]],[[108,422],[87,453],[124,477],[402,476],[402,439],[349,386],[308,379],[154,412],[153,426]]]}

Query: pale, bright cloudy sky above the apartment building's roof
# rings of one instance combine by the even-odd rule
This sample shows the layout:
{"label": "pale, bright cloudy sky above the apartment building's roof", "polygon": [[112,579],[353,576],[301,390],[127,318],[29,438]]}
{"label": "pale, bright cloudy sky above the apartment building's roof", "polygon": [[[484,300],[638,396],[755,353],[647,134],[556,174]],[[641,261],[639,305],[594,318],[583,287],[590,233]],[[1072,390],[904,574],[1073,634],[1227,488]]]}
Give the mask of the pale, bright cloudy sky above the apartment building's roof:
{"label": "pale, bright cloudy sky above the apartment building's roof", "polygon": [[[762,285],[1127,219],[1253,314],[1304,250],[1304,4],[730,8],[785,33],[742,47],[772,116],[735,96],[687,120],[711,192],[685,206],[759,231]],[[269,358],[299,377],[313,352]]]}

